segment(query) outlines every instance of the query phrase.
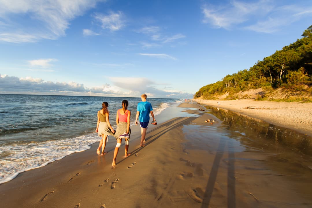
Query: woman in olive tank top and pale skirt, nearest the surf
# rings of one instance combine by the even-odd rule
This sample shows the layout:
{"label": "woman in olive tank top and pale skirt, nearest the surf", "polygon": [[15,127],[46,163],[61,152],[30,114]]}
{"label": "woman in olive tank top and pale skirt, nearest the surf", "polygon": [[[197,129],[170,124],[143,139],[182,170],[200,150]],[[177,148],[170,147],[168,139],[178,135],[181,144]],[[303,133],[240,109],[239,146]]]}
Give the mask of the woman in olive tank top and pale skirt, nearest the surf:
{"label": "woman in olive tank top and pale skirt, nearest the surf", "polygon": [[102,137],[99,147],[96,150],[96,153],[100,154],[100,149],[102,147],[101,155],[105,155],[107,152],[104,152],[105,146],[106,146],[106,140],[108,135],[114,135],[115,131],[110,125],[110,113],[108,112],[108,103],[103,102],[102,103],[102,109],[98,111],[97,117],[98,121],[96,124],[96,132],[99,136]]}

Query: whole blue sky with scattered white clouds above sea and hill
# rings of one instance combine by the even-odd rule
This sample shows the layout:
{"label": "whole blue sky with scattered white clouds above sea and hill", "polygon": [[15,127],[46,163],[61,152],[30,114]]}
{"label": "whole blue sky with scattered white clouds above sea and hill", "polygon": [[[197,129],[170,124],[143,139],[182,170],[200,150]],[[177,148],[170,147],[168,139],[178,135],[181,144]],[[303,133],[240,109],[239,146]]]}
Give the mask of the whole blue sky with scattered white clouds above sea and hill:
{"label": "whole blue sky with scattered white clouds above sea and hill", "polygon": [[0,93],[189,99],[311,20],[307,0],[0,0]]}

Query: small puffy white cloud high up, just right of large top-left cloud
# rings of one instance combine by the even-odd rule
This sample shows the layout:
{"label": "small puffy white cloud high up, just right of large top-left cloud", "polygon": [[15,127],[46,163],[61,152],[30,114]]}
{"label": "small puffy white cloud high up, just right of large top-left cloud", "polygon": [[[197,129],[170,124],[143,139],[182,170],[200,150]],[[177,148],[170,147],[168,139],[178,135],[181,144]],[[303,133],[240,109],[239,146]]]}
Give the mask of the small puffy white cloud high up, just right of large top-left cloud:
{"label": "small puffy white cloud high up, just right of large top-left cloud", "polygon": [[124,27],[125,17],[122,12],[113,13],[109,15],[95,14],[95,19],[101,22],[103,29],[110,29],[110,31],[117,31]]}

